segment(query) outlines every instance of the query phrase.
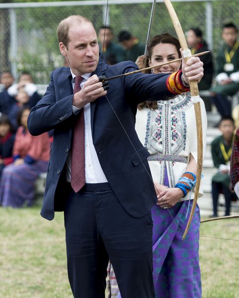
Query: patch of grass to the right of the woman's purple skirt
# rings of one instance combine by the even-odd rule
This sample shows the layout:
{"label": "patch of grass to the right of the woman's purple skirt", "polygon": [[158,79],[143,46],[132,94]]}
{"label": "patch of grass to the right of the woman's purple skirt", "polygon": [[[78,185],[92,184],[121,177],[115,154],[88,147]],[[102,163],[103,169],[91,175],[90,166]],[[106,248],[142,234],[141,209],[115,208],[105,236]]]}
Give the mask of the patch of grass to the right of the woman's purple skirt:
{"label": "patch of grass to the right of the woman's purple skirt", "polygon": [[203,298],[239,298],[239,219],[203,223],[200,228]]}

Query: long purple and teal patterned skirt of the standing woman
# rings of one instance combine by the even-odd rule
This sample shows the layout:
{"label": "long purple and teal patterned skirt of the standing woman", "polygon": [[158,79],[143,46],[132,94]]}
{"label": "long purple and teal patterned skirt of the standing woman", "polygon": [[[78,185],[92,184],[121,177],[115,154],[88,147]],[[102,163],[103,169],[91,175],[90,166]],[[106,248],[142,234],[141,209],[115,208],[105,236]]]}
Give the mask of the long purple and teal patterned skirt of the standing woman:
{"label": "long purple and teal patterned skirt of the standing woman", "polygon": [[[186,239],[182,240],[188,222],[188,218],[185,219],[188,204],[191,210],[192,203],[193,201],[177,203],[168,210],[157,205],[151,209],[155,298],[202,297],[198,205]],[[112,278],[113,275],[114,272],[111,271]],[[117,298],[121,298],[120,293]]]}

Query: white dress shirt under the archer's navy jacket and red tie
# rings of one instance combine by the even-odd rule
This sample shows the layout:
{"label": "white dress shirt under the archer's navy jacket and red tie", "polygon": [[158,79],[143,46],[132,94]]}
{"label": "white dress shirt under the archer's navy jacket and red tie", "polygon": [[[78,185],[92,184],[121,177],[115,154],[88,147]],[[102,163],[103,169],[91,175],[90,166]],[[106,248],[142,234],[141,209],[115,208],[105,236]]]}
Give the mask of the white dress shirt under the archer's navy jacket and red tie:
{"label": "white dress shirt under the archer's navy jacket and red tie", "polygon": [[[74,90],[74,78],[75,74],[72,73],[72,86]],[[84,74],[82,77],[84,80],[81,82],[80,86],[83,87],[84,83],[88,80],[91,74]],[[80,109],[72,106],[74,114],[77,114]],[[84,118],[85,118],[85,177],[86,183],[103,183],[108,182],[106,176],[102,170],[99,158],[96,153],[96,149],[93,144],[92,131],[91,131],[91,104],[87,103],[84,106]],[[67,181],[71,181],[71,151],[67,156]]]}

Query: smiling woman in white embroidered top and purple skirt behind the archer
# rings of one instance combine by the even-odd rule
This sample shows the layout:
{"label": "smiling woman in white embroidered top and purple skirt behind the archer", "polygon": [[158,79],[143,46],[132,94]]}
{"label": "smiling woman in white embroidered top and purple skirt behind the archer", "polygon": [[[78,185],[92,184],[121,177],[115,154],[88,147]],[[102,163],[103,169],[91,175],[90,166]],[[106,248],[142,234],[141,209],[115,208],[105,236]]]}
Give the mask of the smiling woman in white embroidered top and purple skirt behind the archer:
{"label": "smiling woman in white embroidered top and purple skirt behind the archer", "polygon": [[[166,33],[156,35],[147,46],[145,67],[180,57],[176,38]],[[181,63],[176,62],[155,68],[152,73],[174,73],[180,66]],[[169,76],[168,84],[171,79],[173,77]],[[203,100],[200,104],[205,151],[207,116]],[[168,101],[155,98],[154,102],[141,103],[135,129],[150,153],[148,162],[158,197],[157,205],[151,210],[155,297],[201,298],[198,205],[186,239],[182,240],[192,208],[194,193],[191,190],[197,172],[197,130],[191,94],[186,92]],[[199,196],[202,196],[201,187]],[[111,279],[114,280],[114,276]]]}

